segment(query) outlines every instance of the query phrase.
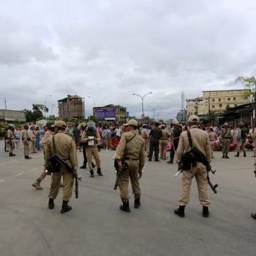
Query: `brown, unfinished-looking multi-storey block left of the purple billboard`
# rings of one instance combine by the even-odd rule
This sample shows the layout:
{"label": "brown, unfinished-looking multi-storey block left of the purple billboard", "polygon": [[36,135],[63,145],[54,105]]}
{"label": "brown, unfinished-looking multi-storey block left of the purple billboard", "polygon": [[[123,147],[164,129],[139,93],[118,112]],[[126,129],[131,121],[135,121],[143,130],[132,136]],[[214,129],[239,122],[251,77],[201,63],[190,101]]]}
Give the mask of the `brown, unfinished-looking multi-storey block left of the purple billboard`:
{"label": "brown, unfinished-looking multi-storey block left of the purple billboard", "polygon": [[58,100],[59,117],[68,119],[84,119],[84,99],[78,95],[67,95]]}

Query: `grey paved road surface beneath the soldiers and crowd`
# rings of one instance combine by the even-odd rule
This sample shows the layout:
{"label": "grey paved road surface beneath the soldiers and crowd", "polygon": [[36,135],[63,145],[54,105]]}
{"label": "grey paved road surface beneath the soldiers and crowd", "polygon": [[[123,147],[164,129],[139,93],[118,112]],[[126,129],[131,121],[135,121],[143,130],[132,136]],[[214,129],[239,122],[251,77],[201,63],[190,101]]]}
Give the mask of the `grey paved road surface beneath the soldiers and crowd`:
{"label": "grey paved road surface beneath the soldiers and crowd", "polygon": [[[0,145],[2,148],[2,145]],[[102,151],[103,177],[89,178],[80,170],[80,198],[71,200],[72,211],[60,214],[61,195],[56,208],[48,210],[50,178],[43,190],[31,183],[42,171],[42,152],[23,159],[0,152],[0,254],[37,255],[253,255],[255,256],[256,179],[252,153],[246,158],[221,159],[215,153],[212,165],[219,183],[218,194],[209,190],[211,216],[201,216],[195,181],[186,217],[173,214],[180,195],[177,165],[148,162],[143,179],[142,207],[131,214],[118,210],[118,192],[113,191],[113,151]],[[82,154],[79,161],[82,162]],[[60,191],[62,192],[62,191]],[[131,195],[132,196],[132,195]],[[133,203],[133,200],[131,200]]]}

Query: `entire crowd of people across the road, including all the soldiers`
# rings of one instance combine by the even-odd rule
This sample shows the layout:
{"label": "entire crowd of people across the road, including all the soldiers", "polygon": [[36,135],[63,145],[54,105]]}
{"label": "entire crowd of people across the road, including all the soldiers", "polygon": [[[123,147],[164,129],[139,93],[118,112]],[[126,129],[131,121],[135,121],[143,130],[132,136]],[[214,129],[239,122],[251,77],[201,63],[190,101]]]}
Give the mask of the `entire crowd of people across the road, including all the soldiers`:
{"label": "entire crowd of people across the road, including all the soldiers", "polygon": [[[32,184],[36,189],[42,189],[41,181],[51,174],[50,192],[48,207],[54,208],[59,187],[64,187],[63,204],[61,213],[72,209],[69,206],[69,199],[72,195],[73,175],[69,168],[77,172],[77,152],[83,151],[83,165],[81,169],[89,167],[90,177],[94,178],[94,168],[97,167],[97,175],[103,176],[99,152],[103,150],[115,150],[117,170],[122,173],[118,186],[120,189],[122,205],[121,211],[130,212],[129,208],[129,179],[132,183],[132,192],[135,195],[135,208],[140,208],[140,177],[143,173],[145,159],[148,162],[160,159],[167,159],[167,152],[170,152],[168,164],[173,164],[174,159],[183,170],[182,195],[178,201],[179,208],[174,212],[179,217],[184,217],[184,208],[189,203],[189,187],[192,178],[197,179],[200,203],[203,205],[203,217],[209,216],[208,206],[210,205],[207,195],[208,176],[206,166],[198,159],[194,159],[189,167],[189,172],[184,169],[183,156],[195,144],[203,155],[211,161],[214,158],[214,150],[222,150],[222,158],[229,159],[230,151],[236,150],[234,157],[246,157],[246,148],[254,149],[256,143],[256,130],[246,124],[238,124],[237,127],[222,124],[221,127],[202,125],[197,116],[189,117],[188,126],[179,124],[174,120],[170,125],[155,122],[154,124],[138,124],[132,119],[127,124],[118,126],[116,124],[102,125],[94,121],[87,124],[66,124],[64,121],[48,121],[40,128],[26,124],[23,127],[8,127],[6,133],[6,145],[10,157],[15,157],[15,145],[19,148],[20,141],[23,142],[24,157],[31,159],[29,154],[44,151],[45,165],[40,176]],[[191,138],[192,136],[192,138]],[[52,138],[52,139],[50,139]],[[7,151],[7,148],[6,151]],[[53,165],[53,156],[58,155],[69,166]],[[252,157],[255,157],[255,149]],[[186,160],[190,161],[190,160]],[[94,163],[95,162],[95,163]],[[202,165],[201,165],[202,164]],[[187,163],[186,163],[187,165]],[[54,170],[54,169],[58,170]],[[53,171],[49,171],[53,170]],[[124,172],[127,170],[127,172]],[[63,184],[61,184],[63,177]],[[256,218],[256,214],[252,214]]]}

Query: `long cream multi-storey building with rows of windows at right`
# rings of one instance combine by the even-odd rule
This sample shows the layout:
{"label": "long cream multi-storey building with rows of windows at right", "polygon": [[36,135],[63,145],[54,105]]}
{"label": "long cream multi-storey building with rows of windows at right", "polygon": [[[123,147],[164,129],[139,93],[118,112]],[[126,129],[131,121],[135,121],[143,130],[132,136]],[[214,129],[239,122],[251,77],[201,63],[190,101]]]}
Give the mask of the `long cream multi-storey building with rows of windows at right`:
{"label": "long cream multi-storey building with rows of windows at right", "polygon": [[222,113],[249,102],[244,97],[247,90],[203,91],[203,97],[187,99],[187,116],[192,114],[206,116],[210,113]]}

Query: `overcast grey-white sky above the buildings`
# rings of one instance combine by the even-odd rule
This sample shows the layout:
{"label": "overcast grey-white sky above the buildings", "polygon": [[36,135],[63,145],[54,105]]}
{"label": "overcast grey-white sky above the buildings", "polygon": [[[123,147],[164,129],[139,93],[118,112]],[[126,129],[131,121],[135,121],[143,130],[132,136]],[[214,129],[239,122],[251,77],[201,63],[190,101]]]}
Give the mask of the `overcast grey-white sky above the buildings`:
{"label": "overcast grey-white sky above the buildings", "polygon": [[[173,118],[203,90],[256,75],[255,0],[0,0],[0,109],[86,99]],[[51,97],[49,97],[51,95]],[[88,96],[92,97],[88,98]],[[148,107],[151,106],[151,107]]]}

